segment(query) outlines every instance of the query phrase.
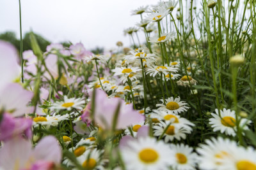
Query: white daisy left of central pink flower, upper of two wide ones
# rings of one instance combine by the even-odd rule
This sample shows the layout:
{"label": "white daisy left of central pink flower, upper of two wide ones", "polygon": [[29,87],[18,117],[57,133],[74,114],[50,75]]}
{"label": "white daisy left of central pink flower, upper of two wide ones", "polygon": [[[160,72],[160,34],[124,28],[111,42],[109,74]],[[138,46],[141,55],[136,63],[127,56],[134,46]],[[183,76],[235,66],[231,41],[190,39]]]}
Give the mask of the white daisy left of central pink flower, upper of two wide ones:
{"label": "white daisy left of central pink flower, upper of two wide ones", "polygon": [[51,110],[68,110],[70,111],[72,108],[77,110],[83,110],[84,106],[84,99],[83,98],[70,98],[68,99],[67,96],[64,96],[64,101],[56,101],[56,103],[52,104]]}

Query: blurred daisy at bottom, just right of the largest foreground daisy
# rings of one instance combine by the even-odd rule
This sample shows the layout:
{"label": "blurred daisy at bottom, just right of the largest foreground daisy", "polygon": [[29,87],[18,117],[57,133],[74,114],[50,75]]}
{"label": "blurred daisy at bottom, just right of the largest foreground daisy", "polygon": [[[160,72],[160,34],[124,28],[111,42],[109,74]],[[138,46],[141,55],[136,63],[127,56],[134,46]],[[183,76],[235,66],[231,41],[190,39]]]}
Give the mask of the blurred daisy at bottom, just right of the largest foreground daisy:
{"label": "blurred daisy at bottom, just right of the largest foreground daisy", "polygon": [[180,145],[171,144],[171,149],[175,155],[173,169],[194,170],[196,166],[196,158],[198,155],[193,152],[193,148],[181,143]]}

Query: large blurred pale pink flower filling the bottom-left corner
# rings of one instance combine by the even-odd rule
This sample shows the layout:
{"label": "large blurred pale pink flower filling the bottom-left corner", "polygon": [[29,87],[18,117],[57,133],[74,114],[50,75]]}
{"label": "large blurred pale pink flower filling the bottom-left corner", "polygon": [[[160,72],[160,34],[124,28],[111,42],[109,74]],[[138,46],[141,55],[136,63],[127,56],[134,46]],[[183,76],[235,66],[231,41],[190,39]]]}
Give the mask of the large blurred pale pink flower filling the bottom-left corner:
{"label": "large blurred pale pink flower filling the bottom-left corner", "polygon": [[13,138],[0,149],[0,169],[48,170],[60,162],[61,148],[54,136],[41,139],[35,148],[28,140]]}

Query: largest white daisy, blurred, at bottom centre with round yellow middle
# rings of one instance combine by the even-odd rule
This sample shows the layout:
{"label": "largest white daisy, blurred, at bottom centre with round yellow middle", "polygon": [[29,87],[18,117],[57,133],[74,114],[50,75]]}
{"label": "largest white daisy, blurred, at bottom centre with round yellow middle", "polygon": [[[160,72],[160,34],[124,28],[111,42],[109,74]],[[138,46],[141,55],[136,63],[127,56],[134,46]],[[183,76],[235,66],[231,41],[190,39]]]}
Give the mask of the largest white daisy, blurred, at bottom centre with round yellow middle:
{"label": "largest white daisy, blurred, at bottom centre with round yellow middle", "polygon": [[122,158],[127,170],[167,170],[173,163],[172,150],[155,138],[138,138],[127,142],[121,148]]}

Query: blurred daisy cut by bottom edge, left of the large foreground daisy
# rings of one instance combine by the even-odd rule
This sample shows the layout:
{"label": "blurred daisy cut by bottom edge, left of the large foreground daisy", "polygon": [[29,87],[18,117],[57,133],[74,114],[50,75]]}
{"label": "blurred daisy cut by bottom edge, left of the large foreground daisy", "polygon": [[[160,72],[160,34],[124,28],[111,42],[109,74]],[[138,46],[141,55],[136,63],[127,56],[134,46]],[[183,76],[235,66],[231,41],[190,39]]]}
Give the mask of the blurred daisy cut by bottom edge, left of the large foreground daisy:
{"label": "blurred daisy cut by bottom edge, left of the large foreground daisy", "polygon": [[106,160],[102,161],[103,150],[86,150],[83,155],[77,157],[77,162],[85,169],[104,169]]}

